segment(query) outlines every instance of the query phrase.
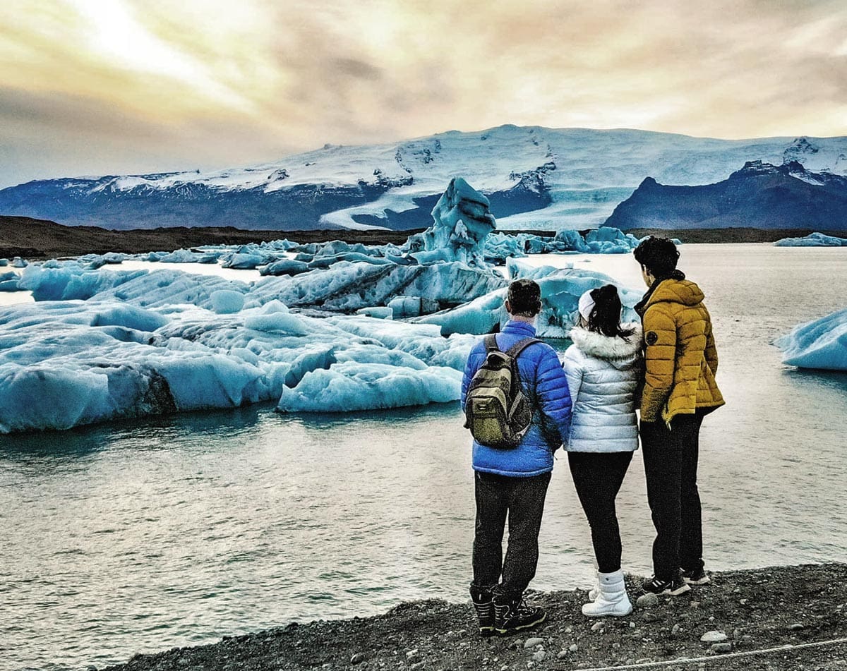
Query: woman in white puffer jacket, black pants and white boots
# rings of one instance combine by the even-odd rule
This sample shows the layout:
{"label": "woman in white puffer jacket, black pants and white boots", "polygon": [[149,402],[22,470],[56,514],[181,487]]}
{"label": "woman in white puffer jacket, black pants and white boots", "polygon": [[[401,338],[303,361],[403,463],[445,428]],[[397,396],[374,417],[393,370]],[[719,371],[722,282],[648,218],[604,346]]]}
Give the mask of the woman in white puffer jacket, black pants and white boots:
{"label": "woman in white puffer jacket, black pants and white boots", "polygon": [[615,497],[638,449],[635,408],[643,364],[641,328],[621,324],[621,312],[614,285],[586,291],[562,364],[573,402],[567,461],[597,560],[597,585],[582,611],[594,618],[632,613],[621,571]]}

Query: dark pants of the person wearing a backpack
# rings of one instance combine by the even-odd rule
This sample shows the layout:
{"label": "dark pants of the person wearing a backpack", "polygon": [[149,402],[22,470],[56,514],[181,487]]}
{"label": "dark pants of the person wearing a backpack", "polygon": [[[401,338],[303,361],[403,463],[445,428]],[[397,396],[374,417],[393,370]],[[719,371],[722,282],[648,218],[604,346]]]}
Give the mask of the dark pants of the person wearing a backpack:
{"label": "dark pants of the person wearing a backpack", "polygon": [[[477,472],[476,533],[473,537],[473,583],[518,599],[535,576],[538,532],[544,513],[549,473],[529,478]],[[509,520],[509,540],[503,559],[503,531]],[[501,582],[502,575],[502,582]]]}

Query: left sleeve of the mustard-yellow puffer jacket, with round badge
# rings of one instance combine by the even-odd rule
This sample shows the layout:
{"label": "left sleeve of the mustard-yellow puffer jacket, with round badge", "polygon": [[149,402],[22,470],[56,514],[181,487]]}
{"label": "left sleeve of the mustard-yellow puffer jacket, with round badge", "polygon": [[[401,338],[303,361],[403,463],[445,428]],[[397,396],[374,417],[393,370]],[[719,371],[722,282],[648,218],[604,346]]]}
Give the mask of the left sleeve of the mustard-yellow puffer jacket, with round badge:
{"label": "left sleeve of the mustard-yellow puffer jacket, with round badge", "polygon": [[673,315],[650,307],[644,315],[645,375],[641,394],[641,421],[655,422],[673,389],[677,326]]}

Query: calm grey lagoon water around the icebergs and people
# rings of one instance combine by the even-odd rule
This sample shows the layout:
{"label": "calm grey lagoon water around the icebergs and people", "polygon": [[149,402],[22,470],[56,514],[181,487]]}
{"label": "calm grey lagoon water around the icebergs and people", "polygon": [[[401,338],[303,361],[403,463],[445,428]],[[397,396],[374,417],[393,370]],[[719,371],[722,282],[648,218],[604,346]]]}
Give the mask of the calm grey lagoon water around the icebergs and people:
{"label": "calm grey lagoon water around the icebergs and people", "polygon": [[[726,408],[700,457],[709,568],[847,556],[847,374],[773,338],[847,304],[847,249],[682,248],[706,291]],[[631,257],[545,257],[631,286]],[[292,620],[463,601],[473,479],[458,404],[345,416],[272,407],[0,436],[0,668],[102,667]],[[639,454],[624,568],[650,572]],[[588,526],[556,464],[533,586],[588,585]]]}

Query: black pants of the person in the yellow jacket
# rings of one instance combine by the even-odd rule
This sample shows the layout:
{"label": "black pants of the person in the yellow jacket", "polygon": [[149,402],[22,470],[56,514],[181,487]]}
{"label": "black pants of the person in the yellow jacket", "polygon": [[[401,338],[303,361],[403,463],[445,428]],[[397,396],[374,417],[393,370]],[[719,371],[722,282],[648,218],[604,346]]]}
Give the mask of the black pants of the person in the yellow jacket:
{"label": "black pants of the person in the yellow jacket", "polygon": [[647,480],[647,502],[656,527],[653,571],[667,580],[679,568],[703,567],[703,530],[697,457],[703,414],[677,415],[667,424],[642,422],[641,448]]}

